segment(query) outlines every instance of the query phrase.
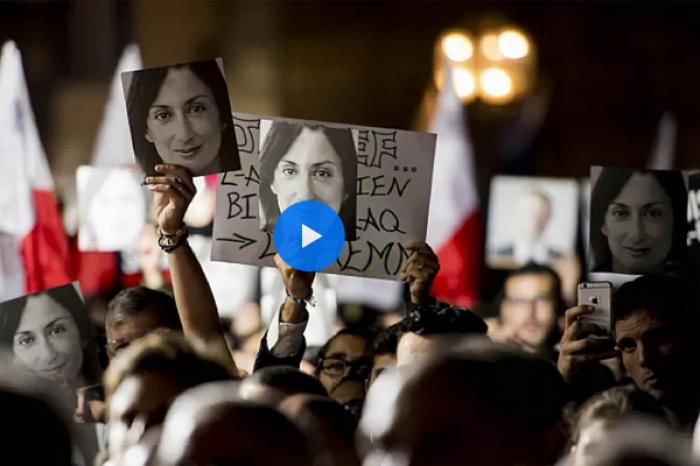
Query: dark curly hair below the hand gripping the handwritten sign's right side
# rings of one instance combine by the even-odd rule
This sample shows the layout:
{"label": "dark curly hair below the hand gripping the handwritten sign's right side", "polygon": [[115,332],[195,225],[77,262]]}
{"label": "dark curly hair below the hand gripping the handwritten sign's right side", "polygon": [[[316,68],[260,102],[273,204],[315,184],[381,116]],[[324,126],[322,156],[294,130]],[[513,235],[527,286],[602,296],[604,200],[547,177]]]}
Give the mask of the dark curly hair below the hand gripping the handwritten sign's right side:
{"label": "dark curly hair below the hand gripping the handwritten sign's right side", "polygon": [[[401,322],[401,333],[440,335],[448,333],[485,334],[484,319],[469,309],[436,302],[415,308]],[[399,338],[400,339],[400,338]]]}

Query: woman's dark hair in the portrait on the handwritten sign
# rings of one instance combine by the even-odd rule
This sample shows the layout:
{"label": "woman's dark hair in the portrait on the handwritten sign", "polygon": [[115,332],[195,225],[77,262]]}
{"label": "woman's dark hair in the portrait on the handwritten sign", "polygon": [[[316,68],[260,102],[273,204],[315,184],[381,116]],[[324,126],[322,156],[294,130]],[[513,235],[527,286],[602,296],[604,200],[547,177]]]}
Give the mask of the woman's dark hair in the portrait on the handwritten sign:
{"label": "woman's dark hair in the portrait on the handwritten sign", "polygon": [[340,157],[343,167],[343,189],[347,199],[343,201],[338,215],[345,226],[345,239],[352,241],[356,238],[357,155],[352,133],[348,128],[310,126],[286,121],[272,122],[265,142],[260,148],[260,205],[265,215],[265,229],[272,232],[280,215],[277,196],[271,189],[275,168],[304,128],[321,131]]}

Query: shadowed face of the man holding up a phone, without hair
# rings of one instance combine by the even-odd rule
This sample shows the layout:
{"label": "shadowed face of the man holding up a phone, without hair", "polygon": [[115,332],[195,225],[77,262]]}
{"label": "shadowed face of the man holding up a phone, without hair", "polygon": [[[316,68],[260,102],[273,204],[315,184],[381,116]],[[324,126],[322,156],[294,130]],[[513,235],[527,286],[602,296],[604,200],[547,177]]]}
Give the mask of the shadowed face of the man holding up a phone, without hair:
{"label": "shadowed face of the man holding up a phone, without hair", "polygon": [[639,309],[615,323],[615,343],[635,385],[665,401],[682,387],[683,348],[678,329],[651,309]]}

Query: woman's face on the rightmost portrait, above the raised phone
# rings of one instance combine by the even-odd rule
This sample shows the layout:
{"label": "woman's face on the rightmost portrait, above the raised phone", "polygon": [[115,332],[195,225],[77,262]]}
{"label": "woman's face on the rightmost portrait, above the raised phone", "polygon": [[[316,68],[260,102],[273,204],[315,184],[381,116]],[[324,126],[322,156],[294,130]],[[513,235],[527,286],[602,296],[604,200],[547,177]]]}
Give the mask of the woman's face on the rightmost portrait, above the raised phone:
{"label": "woman's face on the rightmost portrait, above the raised phone", "polygon": [[635,173],[610,203],[601,231],[613,272],[660,271],[673,242],[671,198],[652,174]]}

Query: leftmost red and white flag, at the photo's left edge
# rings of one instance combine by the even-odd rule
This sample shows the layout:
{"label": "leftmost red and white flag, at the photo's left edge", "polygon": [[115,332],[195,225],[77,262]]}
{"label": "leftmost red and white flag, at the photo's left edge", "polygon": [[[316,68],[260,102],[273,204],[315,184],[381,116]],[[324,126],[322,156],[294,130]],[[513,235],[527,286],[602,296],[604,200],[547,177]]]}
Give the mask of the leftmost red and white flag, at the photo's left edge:
{"label": "leftmost red and white flag, at the photo's left edge", "polygon": [[0,55],[0,300],[70,282],[68,243],[22,57]]}

